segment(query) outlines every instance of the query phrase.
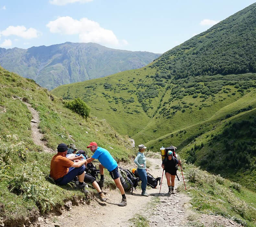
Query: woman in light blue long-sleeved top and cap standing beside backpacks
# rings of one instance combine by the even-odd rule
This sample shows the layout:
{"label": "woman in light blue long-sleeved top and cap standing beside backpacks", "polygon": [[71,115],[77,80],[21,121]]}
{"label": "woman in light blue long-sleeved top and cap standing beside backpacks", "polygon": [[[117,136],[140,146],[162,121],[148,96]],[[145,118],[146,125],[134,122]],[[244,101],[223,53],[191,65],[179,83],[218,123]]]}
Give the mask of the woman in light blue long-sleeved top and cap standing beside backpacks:
{"label": "woman in light blue long-sleeved top and cap standing beside backpacks", "polygon": [[149,196],[146,193],[146,186],[147,186],[147,172],[146,172],[146,157],[144,155],[146,147],[141,144],[139,145],[139,152],[134,159],[135,164],[138,166],[137,171],[141,179],[141,195],[142,196]]}

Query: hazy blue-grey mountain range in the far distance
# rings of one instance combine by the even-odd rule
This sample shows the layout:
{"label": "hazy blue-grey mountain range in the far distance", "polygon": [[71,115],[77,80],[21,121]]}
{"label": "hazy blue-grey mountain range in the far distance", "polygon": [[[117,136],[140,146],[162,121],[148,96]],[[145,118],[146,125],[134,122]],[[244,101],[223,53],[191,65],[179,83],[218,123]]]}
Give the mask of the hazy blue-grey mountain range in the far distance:
{"label": "hazy blue-grey mountain range in the far distance", "polygon": [[66,42],[29,49],[0,48],[0,65],[49,90],[63,84],[138,69],[160,54],[111,49],[96,43]]}

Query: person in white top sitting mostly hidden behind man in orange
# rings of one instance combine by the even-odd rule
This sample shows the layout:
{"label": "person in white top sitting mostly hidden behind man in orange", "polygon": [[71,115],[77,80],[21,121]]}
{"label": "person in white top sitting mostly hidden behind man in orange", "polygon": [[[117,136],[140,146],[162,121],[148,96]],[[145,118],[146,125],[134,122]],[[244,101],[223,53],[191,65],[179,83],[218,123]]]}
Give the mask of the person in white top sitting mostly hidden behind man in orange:
{"label": "person in white top sitting mostly hidden behind man in orange", "polygon": [[[74,161],[78,160],[78,157],[79,158],[84,158],[83,155],[81,155],[81,154],[80,154],[80,156],[76,155],[77,150],[79,150],[79,149],[77,149],[74,144],[69,144],[69,148],[68,148],[66,157],[69,160],[74,160]],[[75,182],[76,181],[78,181],[77,177],[75,178]],[[93,176],[91,176],[90,174],[86,173],[86,172],[85,172],[84,182],[92,184],[92,186],[98,191],[100,199],[102,201],[106,201],[108,199],[104,195],[103,191],[101,191],[101,189],[99,187],[99,184],[97,183],[96,179]]]}

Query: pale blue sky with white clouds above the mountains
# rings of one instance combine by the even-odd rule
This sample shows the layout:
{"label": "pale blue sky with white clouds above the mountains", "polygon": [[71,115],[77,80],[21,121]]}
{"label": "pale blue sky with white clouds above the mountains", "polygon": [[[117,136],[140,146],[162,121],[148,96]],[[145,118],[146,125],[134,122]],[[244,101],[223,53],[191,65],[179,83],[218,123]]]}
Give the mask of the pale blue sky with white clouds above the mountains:
{"label": "pale blue sky with white clouds above the mountains", "polygon": [[69,42],[163,53],[254,1],[0,0],[0,47]]}

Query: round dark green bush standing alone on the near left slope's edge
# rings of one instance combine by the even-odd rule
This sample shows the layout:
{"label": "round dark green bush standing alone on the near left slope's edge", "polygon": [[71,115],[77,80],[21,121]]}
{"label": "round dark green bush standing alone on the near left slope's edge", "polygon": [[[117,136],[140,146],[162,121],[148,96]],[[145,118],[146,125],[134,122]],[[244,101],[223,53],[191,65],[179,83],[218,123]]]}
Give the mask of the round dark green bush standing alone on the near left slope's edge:
{"label": "round dark green bush standing alone on the near left slope's edge", "polygon": [[86,103],[80,98],[76,98],[73,101],[65,103],[65,106],[85,118],[89,116],[89,113],[91,111],[91,109],[86,105]]}

